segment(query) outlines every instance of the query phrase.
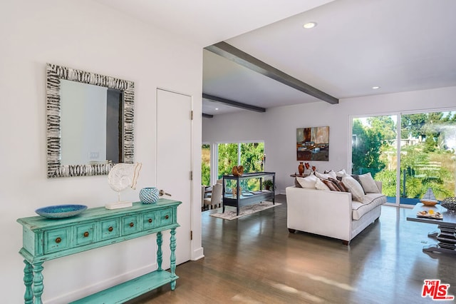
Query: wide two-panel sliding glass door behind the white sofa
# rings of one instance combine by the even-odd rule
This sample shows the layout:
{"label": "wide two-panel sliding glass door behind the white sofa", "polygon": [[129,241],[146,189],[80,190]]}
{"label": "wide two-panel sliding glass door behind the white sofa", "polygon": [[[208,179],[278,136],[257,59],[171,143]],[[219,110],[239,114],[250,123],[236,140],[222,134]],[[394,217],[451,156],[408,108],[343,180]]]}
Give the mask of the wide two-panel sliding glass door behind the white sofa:
{"label": "wide two-panel sliding glass door behind the white sofa", "polygon": [[352,120],[352,173],[382,181],[388,203],[415,205],[428,188],[455,196],[455,150],[455,111]]}

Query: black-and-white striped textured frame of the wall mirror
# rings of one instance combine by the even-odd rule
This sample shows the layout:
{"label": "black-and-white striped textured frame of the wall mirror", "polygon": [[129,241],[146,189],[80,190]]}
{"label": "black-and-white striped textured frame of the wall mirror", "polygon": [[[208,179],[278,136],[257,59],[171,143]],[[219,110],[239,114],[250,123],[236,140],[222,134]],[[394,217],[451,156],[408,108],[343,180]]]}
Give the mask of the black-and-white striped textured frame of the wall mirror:
{"label": "black-and-white striped textured frame of the wall mirror", "polygon": [[88,83],[113,88],[122,92],[122,114],[119,118],[122,163],[133,163],[133,118],[135,83],[110,76],[46,64],[46,125],[47,125],[47,176],[95,176],[108,174],[115,163],[62,164],[61,141],[61,80]]}

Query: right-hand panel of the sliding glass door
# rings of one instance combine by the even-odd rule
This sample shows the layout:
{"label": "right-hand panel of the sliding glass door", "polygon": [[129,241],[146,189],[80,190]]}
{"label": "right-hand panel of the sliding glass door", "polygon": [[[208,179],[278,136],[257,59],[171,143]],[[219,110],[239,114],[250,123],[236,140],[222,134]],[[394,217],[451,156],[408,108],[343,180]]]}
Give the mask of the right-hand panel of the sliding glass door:
{"label": "right-hand panel of the sliding glass door", "polygon": [[418,203],[428,188],[455,196],[456,112],[400,116],[400,203]]}

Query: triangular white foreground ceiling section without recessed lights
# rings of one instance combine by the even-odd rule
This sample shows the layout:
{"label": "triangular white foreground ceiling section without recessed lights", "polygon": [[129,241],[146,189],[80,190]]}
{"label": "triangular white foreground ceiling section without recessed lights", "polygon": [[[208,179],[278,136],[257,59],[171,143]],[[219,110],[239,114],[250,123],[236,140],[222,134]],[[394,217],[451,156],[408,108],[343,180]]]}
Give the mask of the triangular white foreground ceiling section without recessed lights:
{"label": "triangular white foreground ceiling section without recessed lights", "polygon": [[201,47],[333,0],[95,0]]}

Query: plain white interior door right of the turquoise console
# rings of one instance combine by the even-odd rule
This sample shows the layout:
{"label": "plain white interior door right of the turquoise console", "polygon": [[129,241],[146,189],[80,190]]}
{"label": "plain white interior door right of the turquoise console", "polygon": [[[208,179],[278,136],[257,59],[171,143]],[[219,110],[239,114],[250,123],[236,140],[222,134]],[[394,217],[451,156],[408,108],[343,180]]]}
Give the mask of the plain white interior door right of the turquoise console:
{"label": "plain white interior door right of the turquoise console", "polygon": [[[157,187],[182,201],[177,208],[176,261],[191,258],[192,98],[157,89]],[[165,196],[165,198],[167,198]],[[164,234],[163,253],[169,250],[169,233]],[[168,267],[163,260],[163,265]]]}

